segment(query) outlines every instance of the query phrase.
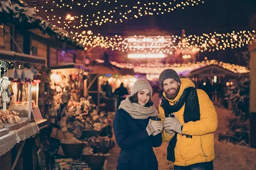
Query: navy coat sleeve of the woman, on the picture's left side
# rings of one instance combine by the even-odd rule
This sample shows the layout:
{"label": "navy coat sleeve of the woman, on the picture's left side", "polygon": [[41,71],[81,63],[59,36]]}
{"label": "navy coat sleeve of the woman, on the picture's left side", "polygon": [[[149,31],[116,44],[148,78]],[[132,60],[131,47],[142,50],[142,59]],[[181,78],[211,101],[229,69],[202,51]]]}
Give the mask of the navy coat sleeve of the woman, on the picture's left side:
{"label": "navy coat sleeve of the woman, on the picture's left side", "polygon": [[150,139],[146,129],[138,129],[138,131],[130,133],[125,116],[125,113],[118,110],[113,120],[116,143],[122,150],[128,150]]}

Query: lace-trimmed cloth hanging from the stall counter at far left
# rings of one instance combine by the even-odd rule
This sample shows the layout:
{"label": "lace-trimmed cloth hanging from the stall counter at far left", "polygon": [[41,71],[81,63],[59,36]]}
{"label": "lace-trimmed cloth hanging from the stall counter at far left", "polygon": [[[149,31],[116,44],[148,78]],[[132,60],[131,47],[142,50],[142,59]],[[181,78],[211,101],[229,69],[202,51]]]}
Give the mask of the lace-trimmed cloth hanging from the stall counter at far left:
{"label": "lace-trimmed cloth hanging from the stall counter at far left", "polygon": [[20,129],[10,131],[7,135],[0,137],[0,156],[10,151],[16,143],[24,141],[39,132],[37,123],[32,122]]}

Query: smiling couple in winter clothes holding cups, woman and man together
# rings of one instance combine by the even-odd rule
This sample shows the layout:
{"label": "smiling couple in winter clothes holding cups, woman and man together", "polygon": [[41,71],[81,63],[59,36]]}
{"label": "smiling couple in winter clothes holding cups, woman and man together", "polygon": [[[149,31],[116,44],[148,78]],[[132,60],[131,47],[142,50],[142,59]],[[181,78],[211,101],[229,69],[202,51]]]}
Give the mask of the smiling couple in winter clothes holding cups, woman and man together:
{"label": "smiling couple in winter clothes holding cups, woman and man together", "polygon": [[[120,147],[116,170],[158,170],[153,147],[168,142],[167,160],[174,170],[213,170],[215,107],[208,95],[172,69],[161,72],[164,90],[159,114],[148,81],[139,79],[121,102],[113,126]],[[152,117],[160,117],[161,121]]]}

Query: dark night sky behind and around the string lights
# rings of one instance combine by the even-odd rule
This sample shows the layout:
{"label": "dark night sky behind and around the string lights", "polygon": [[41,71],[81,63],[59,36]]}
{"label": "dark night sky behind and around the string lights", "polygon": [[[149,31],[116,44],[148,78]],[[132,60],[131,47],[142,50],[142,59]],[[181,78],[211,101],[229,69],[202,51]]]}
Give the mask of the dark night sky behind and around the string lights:
{"label": "dark night sky behind and around the string lights", "polygon": [[[86,15],[89,14],[97,14],[98,11],[103,10],[113,10],[115,7],[119,6],[116,10],[114,15],[115,18],[113,20],[119,20],[122,18],[122,15],[118,15],[119,12],[127,12],[127,10],[131,9],[132,6],[138,5],[139,0],[117,0],[117,3],[114,0],[107,0],[107,2],[111,2],[110,4],[104,2],[104,0],[62,0],[62,2],[57,1],[57,4],[69,4],[73,8],[70,7],[63,7],[58,8],[56,7],[56,3],[54,4],[53,0],[49,0],[49,3],[46,1],[30,1],[31,6],[36,6],[38,9],[41,6],[44,6],[43,10],[40,10],[38,14],[46,19],[49,15],[50,18],[52,16],[62,16],[64,17],[67,14],[71,16],[80,16],[83,15],[83,21],[87,19]],[[162,4],[163,2],[169,3],[172,2],[173,4],[181,2],[186,2],[187,0],[141,0],[140,5],[152,2],[159,2]],[[202,1],[202,0],[201,0]],[[90,5],[90,3],[99,2],[98,6]],[[77,6],[77,3],[81,3],[81,6]],[[88,6],[86,8],[83,7],[83,4],[87,3]],[[128,5],[128,8],[120,8],[120,5]],[[191,4],[191,3],[190,3]],[[153,7],[152,7],[153,8]],[[48,12],[44,12],[47,9]],[[50,9],[54,9],[53,12]],[[102,36],[112,36],[112,35],[123,35],[124,31],[131,31],[133,29],[142,29],[143,31],[148,27],[153,27],[156,25],[160,29],[160,31],[168,31],[172,35],[181,36],[182,29],[185,29],[186,35],[195,34],[195,35],[202,35],[202,33],[231,33],[232,31],[243,31],[245,29],[250,29],[249,27],[249,20],[253,14],[256,14],[256,0],[204,0],[204,3],[199,3],[196,6],[186,6],[185,9],[175,9],[170,13],[165,12],[165,14],[154,14],[153,16],[142,16],[139,18],[134,18],[135,14],[138,15],[138,11],[133,10],[135,13],[130,13],[128,17],[132,17],[132,19],[124,20],[123,23],[118,22],[115,24],[114,22],[107,22],[100,25],[93,25],[88,27],[81,27],[80,29],[73,29],[73,25],[70,25],[69,31],[77,31],[82,33],[82,31],[91,30],[94,34],[100,33]],[[100,14],[102,15],[102,13]],[[104,15],[104,14],[103,14]],[[106,17],[110,17],[109,15]],[[95,18],[94,18],[95,19]],[[94,20],[92,17],[89,17],[90,21]],[[123,18],[122,18],[123,19]],[[51,21],[53,24],[57,26],[63,27],[64,25],[57,24],[58,20]],[[151,22],[150,22],[151,21]],[[154,22],[152,22],[154,21]],[[62,21],[63,22],[63,21]],[[80,25],[80,19],[72,21],[72,24]],[[155,23],[155,24],[154,24]],[[132,27],[130,27],[132,26]],[[110,31],[111,30],[111,34]],[[134,35],[134,34],[132,34]],[[200,60],[203,60],[204,57],[208,57],[208,59],[221,59],[221,61],[229,62],[229,63],[237,63],[239,64],[238,60],[236,59],[235,53],[240,53],[246,49],[235,49],[230,50],[226,49],[225,51],[215,51],[215,52],[204,52],[200,53]]]}

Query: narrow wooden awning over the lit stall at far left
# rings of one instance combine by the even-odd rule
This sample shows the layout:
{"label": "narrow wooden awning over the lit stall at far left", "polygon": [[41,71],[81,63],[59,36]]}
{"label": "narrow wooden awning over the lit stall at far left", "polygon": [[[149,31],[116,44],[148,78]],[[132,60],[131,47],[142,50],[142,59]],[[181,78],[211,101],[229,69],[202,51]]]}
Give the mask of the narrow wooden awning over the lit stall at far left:
{"label": "narrow wooden awning over the lit stall at far left", "polygon": [[0,59],[4,61],[16,61],[22,63],[33,63],[46,65],[44,57],[16,53],[14,51],[0,50]]}

